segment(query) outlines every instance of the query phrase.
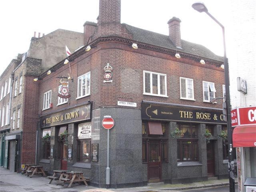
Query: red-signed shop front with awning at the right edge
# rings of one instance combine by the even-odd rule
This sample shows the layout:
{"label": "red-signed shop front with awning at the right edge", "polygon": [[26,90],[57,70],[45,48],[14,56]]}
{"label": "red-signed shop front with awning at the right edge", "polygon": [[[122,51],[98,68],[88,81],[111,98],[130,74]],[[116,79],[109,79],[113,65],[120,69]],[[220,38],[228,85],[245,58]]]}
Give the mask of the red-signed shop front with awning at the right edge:
{"label": "red-signed shop front with awning at the right edge", "polygon": [[238,191],[256,191],[256,107],[231,111],[233,147],[236,147]]}

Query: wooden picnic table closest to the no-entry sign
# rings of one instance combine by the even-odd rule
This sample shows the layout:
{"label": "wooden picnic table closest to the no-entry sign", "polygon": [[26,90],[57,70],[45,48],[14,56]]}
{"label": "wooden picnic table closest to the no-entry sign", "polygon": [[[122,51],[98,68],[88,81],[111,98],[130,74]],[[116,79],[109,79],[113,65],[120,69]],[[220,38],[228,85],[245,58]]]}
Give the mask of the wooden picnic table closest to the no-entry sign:
{"label": "wooden picnic table closest to the no-entry sign", "polygon": [[80,181],[83,181],[84,184],[86,186],[88,186],[86,179],[84,178],[83,172],[67,171],[66,174],[67,175],[65,178],[60,179],[60,180],[64,181],[62,186],[67,182],[67,183],[69,183],[68,188],[70,188],[73,182],[80,182]]}

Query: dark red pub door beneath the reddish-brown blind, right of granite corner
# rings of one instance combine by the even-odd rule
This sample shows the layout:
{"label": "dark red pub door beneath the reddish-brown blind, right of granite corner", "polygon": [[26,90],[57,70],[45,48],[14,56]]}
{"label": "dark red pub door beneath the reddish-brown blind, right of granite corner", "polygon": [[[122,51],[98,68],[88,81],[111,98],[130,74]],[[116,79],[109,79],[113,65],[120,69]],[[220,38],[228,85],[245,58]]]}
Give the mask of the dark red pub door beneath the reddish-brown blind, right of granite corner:
{"label": "dark red pub door beneath the reddish-brown blind, right of granite corner", "polygon": [[160,140],[149,141],[148,143],[148,182],[160,182],[161,179],[161,159]]}

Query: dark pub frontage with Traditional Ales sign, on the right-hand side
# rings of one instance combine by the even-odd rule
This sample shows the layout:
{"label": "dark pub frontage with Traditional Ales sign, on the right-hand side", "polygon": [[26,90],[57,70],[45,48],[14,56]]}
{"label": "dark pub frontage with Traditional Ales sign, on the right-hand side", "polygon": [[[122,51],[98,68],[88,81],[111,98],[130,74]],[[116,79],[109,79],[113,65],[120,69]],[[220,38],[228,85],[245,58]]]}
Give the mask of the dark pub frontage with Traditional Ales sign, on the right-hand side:
{"label": "dark pub frontage with Traditional Ales sign, on the right-hand side", "polygon": [[148,182],[194,182],[228,175],[222,110],[142,102],[142,162]]}

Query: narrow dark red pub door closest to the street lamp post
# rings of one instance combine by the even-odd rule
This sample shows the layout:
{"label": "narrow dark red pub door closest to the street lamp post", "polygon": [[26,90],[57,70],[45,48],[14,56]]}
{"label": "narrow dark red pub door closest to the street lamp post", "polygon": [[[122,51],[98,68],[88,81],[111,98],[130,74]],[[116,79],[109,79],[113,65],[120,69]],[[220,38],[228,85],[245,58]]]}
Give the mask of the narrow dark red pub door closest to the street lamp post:
{"label": "narrow dark red pub door closest to the street lamp post", "polygon": [[214,142],[207,143],[207,174],[208,177],[214,177],[215,166],[214,166]]}

